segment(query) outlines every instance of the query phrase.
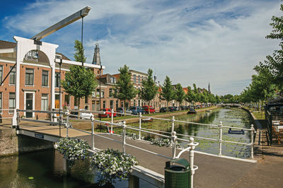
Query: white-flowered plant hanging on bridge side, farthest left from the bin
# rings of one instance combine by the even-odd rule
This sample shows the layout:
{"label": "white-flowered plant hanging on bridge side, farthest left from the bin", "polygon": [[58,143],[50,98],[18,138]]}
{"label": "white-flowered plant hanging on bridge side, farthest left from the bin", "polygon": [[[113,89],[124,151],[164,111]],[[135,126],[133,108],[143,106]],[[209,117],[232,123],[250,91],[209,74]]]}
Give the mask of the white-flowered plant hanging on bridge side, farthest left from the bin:
{"label": "white-flowered plant hanging on bridge side, farthest left from the bin", "polygon": [[57,151],[64,155],[64,158],[70,161],[83,160],[88,158],[89,151],[91,148],[87,141],[80,139],[67,139],[61,138],[57,143]]}

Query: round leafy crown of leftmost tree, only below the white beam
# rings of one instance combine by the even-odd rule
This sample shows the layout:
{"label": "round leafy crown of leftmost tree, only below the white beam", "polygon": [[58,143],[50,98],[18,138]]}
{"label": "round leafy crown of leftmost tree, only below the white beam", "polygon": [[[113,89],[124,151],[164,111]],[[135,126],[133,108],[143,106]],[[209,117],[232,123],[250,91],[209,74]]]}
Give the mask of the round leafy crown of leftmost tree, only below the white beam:
{"label": "round leafy crown of leftmost tree, only below the white beam", "polygon": [[78,101],[91,95],[96,90],[96,86],[96,76],[91,69],[86,70],[83,66],[70,66],[70,71],[66,72],[65,80],[62,81],[65,92],[73,95]]}

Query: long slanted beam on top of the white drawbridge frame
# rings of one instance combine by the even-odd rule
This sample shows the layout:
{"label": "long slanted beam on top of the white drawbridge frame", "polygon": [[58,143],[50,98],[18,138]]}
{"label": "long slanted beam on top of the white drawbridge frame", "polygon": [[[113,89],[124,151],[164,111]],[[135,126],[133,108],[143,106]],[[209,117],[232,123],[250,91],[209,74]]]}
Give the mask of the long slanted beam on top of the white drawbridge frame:
{"label": "long slanted beam on top of the white drawbridge frame", "polygon": [[76,20],[79,20],[80,18],[83,18],[84,16],[88,16],[88,12],[91,11],[90,6],[86,6],[85,8],[81,9],[81,11],[77,11],[76,13],[72,14],[71,16],[64,18],[64,20],[59,21],[58,23],[55,23],[50,28],[47,28],[43,30],[42,32],[38,33],[37,35],[30,37],[30,39],[33,40],[41,40],[44,37],[47,37],[48,35],[54,33],[55,31],[64,28],[65,26],[69,25],[70,23],[73,23]]}

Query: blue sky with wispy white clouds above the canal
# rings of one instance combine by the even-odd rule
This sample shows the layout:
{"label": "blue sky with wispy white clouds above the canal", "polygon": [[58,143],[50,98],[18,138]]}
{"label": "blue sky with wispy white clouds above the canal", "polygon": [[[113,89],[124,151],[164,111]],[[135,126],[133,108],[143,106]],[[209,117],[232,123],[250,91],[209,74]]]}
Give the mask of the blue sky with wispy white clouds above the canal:
{"label": "blue sky with wispy white clouds above the canal", "polygon": [[[0,40],[33,37],[86,6],[83,47],[92,62],[96,42],[104,73],[125,64],[146,73],[153,69],[183,87],[195,83],[217,95],[238,95],[250,84],[253,67],[275,49],[267,40],[272,16],[282,16],[279,0],[40,0],[2,1]],[[81,20],[42,39],[57,44],[74,60]]]}

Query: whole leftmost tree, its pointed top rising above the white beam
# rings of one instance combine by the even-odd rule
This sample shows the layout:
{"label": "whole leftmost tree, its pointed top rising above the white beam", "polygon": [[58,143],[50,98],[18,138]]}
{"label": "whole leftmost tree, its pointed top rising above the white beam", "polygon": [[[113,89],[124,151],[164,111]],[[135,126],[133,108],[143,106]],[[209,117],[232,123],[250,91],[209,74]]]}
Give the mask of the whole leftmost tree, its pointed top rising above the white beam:
{"label": "whole leftmost tree, its pointed top rising above the white beam", "polygon": [[[74,42],[74,59],[76,61],[85,62],[86,57],[83,55],[83,47],[79,40]],[[62,81],[62,87],[66,93],[75,97],[75,106],[79,107],[81,98],[87,98],[94,90],[96,90],[96,76],[83,66],[70,66],[70,71],[65,74],[65,80]]]}

